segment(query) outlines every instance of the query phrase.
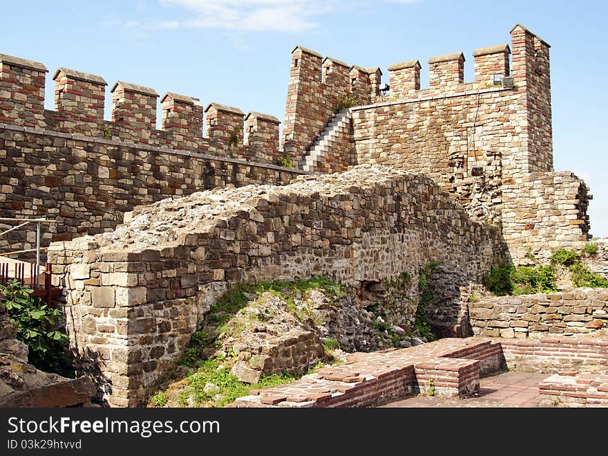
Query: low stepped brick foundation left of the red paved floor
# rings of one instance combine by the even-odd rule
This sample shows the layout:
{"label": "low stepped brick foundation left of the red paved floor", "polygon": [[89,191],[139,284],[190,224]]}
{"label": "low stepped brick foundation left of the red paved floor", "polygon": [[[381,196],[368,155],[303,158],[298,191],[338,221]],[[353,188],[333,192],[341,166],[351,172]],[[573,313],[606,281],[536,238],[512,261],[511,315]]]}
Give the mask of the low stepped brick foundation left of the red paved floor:
{"label": "low stepped brick foundation left of the red paved floor", "polygon": [[479,390],[480,372],[497,370],[499,353],[500,345],[486,338],[446,338],[406,349],[354,353],[343,365],[251,391],[229,406],[368,407],[431,388],[441,396],[462,397]]}

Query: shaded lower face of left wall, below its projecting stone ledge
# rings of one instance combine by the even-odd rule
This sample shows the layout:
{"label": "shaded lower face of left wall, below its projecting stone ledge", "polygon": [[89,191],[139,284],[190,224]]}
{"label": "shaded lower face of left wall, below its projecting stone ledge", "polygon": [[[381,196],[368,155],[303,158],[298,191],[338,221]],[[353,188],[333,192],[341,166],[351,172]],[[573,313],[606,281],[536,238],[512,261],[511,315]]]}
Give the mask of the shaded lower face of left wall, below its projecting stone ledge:
{"label": "shaded lower face of left wall, below its projecting stone ledge", "polygon": [[[55,221],[44,226],[43,246],[111,231],[135,206],[216,187],[286,184],[299,174],[267,163],[0,125],[0,215]],[[35,248],[34,235],[12,231],[0,238],[0,251]]]}

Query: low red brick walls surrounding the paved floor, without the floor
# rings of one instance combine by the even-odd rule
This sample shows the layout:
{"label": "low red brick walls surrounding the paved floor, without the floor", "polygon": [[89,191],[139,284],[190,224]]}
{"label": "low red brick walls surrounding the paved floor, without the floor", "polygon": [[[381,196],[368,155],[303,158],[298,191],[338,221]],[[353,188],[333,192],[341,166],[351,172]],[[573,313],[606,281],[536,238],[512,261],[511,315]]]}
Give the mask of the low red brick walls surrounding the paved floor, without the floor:
{"label": "low red brick walls surrounding the paved floor, without the floor", "polygon": [[[230,407],[368,407],[412,394],[466,397],[479,391],[479,376],[517,361],[544,372],[582,366],[602,374],[555,375],[541,383],[541,397],[608,405],[608,339],[547,337],[540,340],[441,339],[406,349],[354,353],[343,365],[325,367],[288,385],[252,391]],[[571,373],[576,373],[573,371]],[[431,382],[432,380],[432,382]],[[563,400],[563,399],[562,399]],[[553,405],[545,401],[545,405]]]}

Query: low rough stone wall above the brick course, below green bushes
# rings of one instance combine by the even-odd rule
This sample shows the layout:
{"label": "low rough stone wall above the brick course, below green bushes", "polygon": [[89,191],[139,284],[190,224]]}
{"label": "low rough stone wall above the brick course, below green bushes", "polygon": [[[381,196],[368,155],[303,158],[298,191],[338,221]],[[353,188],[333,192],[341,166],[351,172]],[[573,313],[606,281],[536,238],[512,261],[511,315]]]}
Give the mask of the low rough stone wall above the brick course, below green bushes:
{"label": "low rough stone wall above the brick course, below green bushes", "polygon": [[541,338],[548,334],[588,334],[608,324],[608,291],[603,289],[484,297],[470,302],[468,307],[477,336]]}

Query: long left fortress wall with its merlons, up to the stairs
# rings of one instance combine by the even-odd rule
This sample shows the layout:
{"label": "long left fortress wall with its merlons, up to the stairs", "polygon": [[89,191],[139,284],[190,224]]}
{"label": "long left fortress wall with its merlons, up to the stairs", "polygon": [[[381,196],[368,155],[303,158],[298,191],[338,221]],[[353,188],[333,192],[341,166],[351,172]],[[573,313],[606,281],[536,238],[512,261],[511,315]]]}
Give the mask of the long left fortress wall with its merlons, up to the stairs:
{"label": "long left fortress wall with its merlons, up to the stairs", "polygon": [[[0,211],[55,221],[42,244],[111,231],[124,212],[210,188],[289,183],[303,172],[273,165],[279,121],[218,103],[116,82],[104,121],[102,77],[60,68],[55,108],[44,109],[46,67],[0,55]],[[243,133],[246,138],[243,143]],[[5,226],[5,225],[1,225]],[[35,247],[33,232],[0,238],[0,250]]]}

